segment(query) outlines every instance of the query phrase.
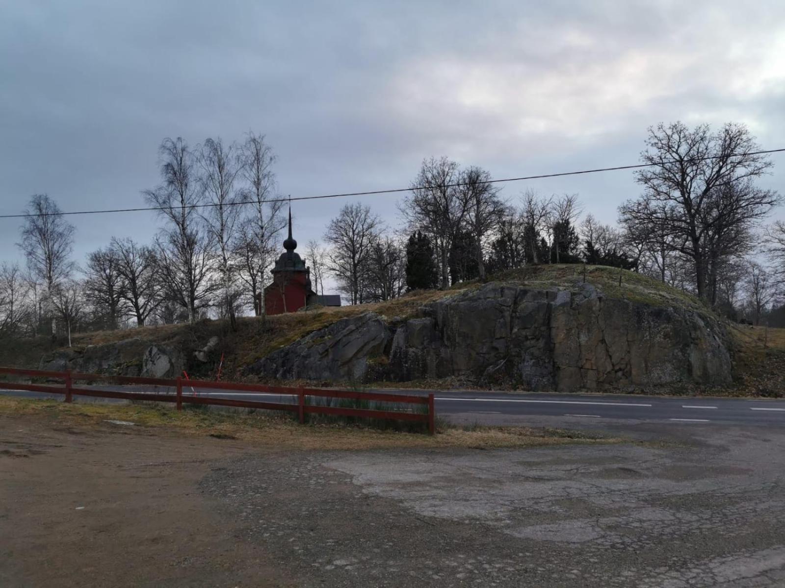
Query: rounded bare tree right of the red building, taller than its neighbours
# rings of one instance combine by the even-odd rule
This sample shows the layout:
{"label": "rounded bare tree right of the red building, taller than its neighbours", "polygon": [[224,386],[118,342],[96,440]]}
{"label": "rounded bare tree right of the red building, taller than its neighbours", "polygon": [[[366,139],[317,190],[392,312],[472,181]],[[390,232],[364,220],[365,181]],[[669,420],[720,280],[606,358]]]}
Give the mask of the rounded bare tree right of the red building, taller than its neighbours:
{"label": "rounded bare tree right of the red building, taller than its neighbours", "polygon": [[381,227],[382,221],[371,213],[371,207],[360,202],[345,205],[327,225],[324,240],[331,246],[327,269],[352,304],[363,303],[363,267]]}

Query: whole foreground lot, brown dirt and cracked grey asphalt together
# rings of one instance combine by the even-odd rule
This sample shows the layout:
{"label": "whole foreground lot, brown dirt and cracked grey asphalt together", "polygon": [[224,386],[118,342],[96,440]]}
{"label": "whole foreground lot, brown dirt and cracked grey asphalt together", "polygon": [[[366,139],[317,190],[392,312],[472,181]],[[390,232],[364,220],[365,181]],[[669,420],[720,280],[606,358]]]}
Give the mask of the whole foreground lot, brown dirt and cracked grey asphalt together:
{"label": "whole foreground lot, brown dirt and cracked grey asphalt together", "polygon": [[630,432],[302,449],[0,414],[0,586],[785,586],[783,431]]}

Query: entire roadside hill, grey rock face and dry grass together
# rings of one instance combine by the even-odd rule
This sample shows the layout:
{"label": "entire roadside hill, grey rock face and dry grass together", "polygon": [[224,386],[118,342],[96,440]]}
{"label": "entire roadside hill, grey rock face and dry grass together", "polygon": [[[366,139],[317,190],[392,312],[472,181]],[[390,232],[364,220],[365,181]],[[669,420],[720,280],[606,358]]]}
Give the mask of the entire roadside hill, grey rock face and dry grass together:
{"label": "entire roadside hill, grey rock face and dry grass together", "polygon": [[[730,325],[630,271],[548,265],[383,303],[242,318],[237,332],[205,320],[78,333],[71,349],[5,340],[0,363],[212,378],[223,356],[223,379],[780,395],[781,330]],[[338,349],[352,341],[360,345],[347,360]]]}

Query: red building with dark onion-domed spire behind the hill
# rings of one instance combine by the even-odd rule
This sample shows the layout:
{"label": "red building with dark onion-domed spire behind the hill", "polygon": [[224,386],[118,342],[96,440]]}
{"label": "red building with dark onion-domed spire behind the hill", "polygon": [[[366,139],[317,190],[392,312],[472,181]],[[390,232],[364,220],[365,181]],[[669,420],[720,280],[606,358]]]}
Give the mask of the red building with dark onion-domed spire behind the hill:
{"label": "red building with dark onion-domed spire behind the hill", "polygon": [[311,289],[311,270],[294,252],[297,241],[292,238],[292,213],[289,210],[289,236],[283,241],[285,252],[272,268],[272,284],[265,288],[265,313],[296,312],[309,304],[340,307],[341,296],[319,296]]}

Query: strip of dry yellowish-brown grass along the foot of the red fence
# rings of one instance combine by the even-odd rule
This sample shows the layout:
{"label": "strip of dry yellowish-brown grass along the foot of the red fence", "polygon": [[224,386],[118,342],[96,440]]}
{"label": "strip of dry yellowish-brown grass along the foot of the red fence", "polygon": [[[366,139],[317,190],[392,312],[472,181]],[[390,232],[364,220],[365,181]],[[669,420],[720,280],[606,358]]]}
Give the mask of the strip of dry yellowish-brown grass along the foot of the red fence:
{"label": "strip of dry yellowish-brown grass along the foot of the red fence", "polygon": [[571,443],[616,443],[619,439],[560,429],[528,427],[441,426],[433,437],[345,425],[299,425],[266,414],[184,410],[160,405],[67,405],[55,400],[0,397],[0,416],[26,416],[51,426],[106,429],[135,423],[148,434],[178,434],[249,441],[265,448],[377,449],[377,448],[523,448]]}

